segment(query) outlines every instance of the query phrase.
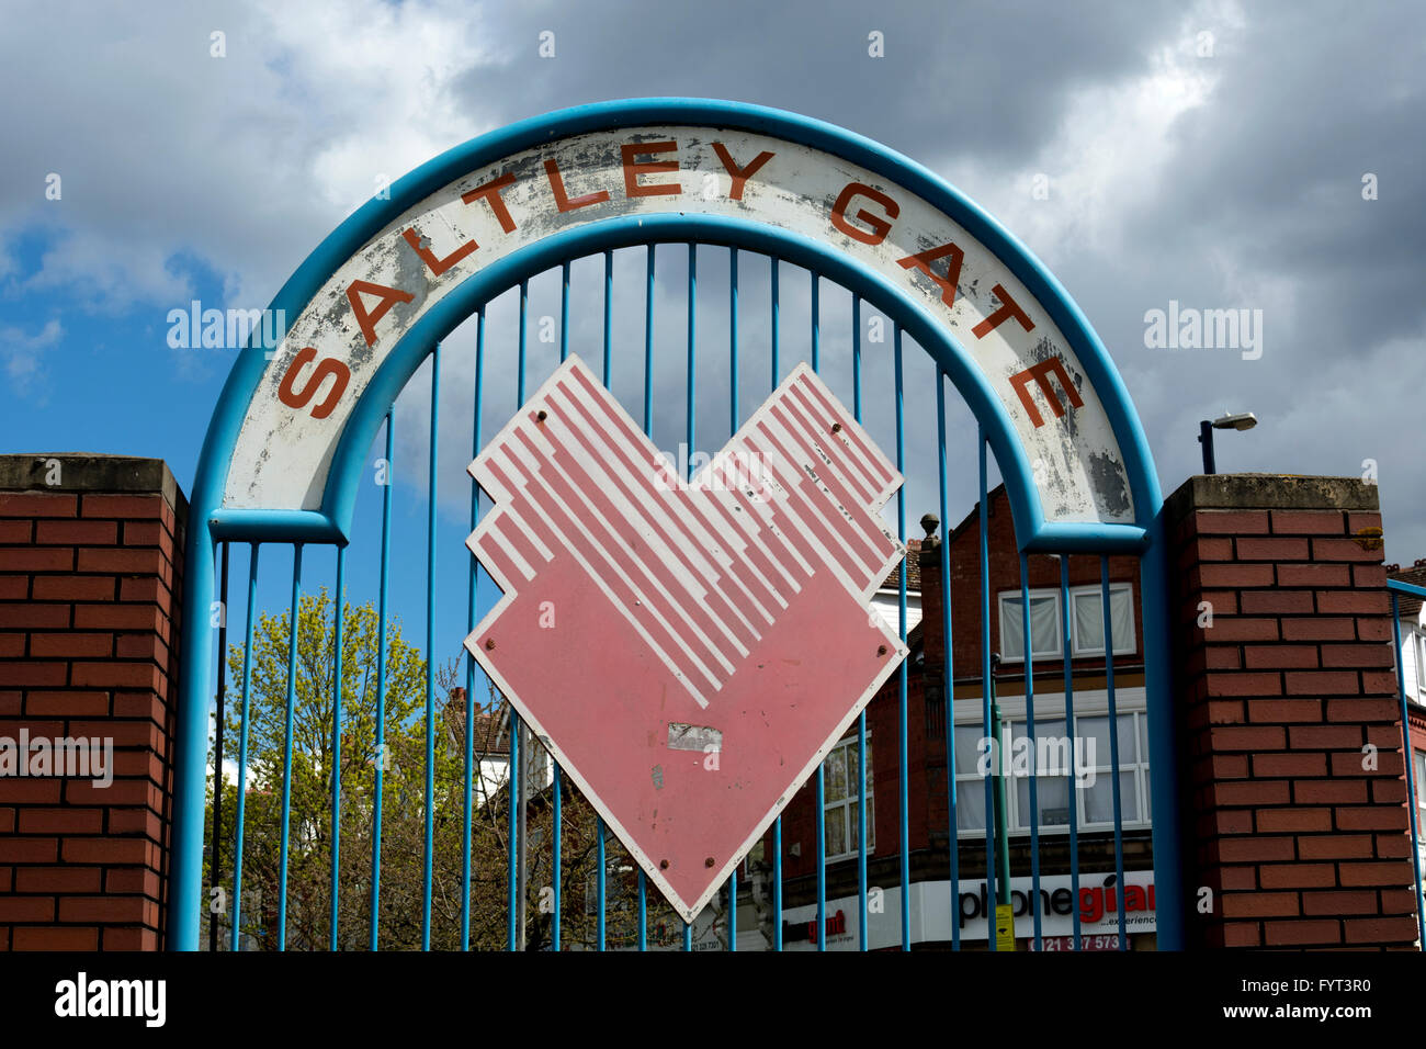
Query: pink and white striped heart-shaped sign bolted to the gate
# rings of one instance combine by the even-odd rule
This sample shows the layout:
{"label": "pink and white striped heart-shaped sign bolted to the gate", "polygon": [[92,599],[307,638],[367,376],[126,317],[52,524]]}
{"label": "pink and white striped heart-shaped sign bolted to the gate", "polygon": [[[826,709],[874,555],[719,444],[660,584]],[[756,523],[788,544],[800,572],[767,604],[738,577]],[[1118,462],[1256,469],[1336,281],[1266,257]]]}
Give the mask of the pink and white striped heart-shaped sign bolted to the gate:
{"label": "pink and white striped heart-shaped sign bolted to the gate", "polygon": [[692,922],[907,648],[901,474],[800,364],[692,481],[578,357],[486,444],[466,648]]}

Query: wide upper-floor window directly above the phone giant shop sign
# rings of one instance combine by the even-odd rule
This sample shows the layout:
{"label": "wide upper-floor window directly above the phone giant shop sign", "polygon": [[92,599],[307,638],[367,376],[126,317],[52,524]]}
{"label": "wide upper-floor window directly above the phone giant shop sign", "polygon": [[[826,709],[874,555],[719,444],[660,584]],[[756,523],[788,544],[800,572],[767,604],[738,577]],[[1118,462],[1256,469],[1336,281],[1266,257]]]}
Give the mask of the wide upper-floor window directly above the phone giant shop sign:
{"label": "wide upper-floor window directly above the phone giant shop sign", "polygon": [[[990,756],[981,746],[985,735],[981,705],[978,699],[963,699],[955,708],[955,825],[961,833],[984,833],[985,776],[981,769],[990,768]],[[1118,755],[1109,748],[1105,692],[1075,694],[1072,739],[1065,736],[1062,695],[1037,696],[1035,714],[1035,744],[1030,748],[1025,701],[1020,696],[1001,701],[1001,766],[1004,769],[1008,764],[1011,772],[1005,784],[1011,833],[1030,832],[1031,768],[1037,771],[1035,808],[1041,833],[1068,831],[1071,806],[1078,829],[1112,829],[1115,776],[1122,825],[1144,826],[1151,822],[1148,715],[1142,688],[1115,689]],[[1017,745],[1017,739],[1027,742]],[[1024,764],[1017,764],[1017,749],[1024,755]],[[1035,755],[1034,765],[1030,764],[1031,754]]]}

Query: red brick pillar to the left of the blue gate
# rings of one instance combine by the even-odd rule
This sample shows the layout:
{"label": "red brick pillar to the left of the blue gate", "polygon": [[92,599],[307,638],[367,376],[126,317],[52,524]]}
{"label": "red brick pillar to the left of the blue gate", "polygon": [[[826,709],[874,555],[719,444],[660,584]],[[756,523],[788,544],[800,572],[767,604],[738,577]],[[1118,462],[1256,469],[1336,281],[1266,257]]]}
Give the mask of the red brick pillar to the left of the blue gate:
{"label": "red brick pillar to the left of the blue gate", "polygon": [[0,455],[0,949],[163,945],[185,514],[158,460]]}

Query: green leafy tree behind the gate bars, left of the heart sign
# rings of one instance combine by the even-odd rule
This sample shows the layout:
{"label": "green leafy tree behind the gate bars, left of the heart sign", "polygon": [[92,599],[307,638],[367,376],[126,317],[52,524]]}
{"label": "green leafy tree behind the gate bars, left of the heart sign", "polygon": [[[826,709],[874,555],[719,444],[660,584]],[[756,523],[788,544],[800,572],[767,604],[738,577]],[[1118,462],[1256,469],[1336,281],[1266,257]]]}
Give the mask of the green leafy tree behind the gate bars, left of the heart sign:
{"label": "green leafy tree behind the gate bars, left of the heart sign", "polygon": [[[332,891],[332,738],[335,629],[334,602],[324,588],[304,595],[298,607],[297,674],[292,682],[292,772],[288,821],[287,948],[325,949],[331,935]],[[382,949],[419,949],[425,885],[426,662],[386,627],[385,739],[376,738],[378,617],[368,602],[347,604],[342,629],[341,838],[338,875],[338,946],[369,943],[371,875],[376,769],[381,791]],[[262,614],[254,624],[248,702],[247,796],[244,811],[242,893],[232,895],[237,784],[224,776],[222,879],[220,926],[227,948],[231,919],[241,902],[245,949],[278,948],[281,888],[282,778],[287,739],[289,615]],[[225,761],[237,762],[242,728],[242,645],[228,651],[224,725]],[[461,886],[465,824],[465,654],[436,668],[435,791],[432,806],[431,946],[461,946]],[[471,933],[472,949],[505,949],[509,913],[509,794],[503,754],[509,709],[491,689],[473,704],[469,726],[472,766]],[[538,748],[538,744],[535,745]],[[482,761],[482,756],[485,761]],[[492,778],[493,776],[493,778]],[[553,818],[549,791],[532,785],[526,808],[526,945],[540,949],[552,936]],[[563,782],[562,941],[566,948],[592,946],[595,915],[590,893],[597,863],[596,816],[573,785]],[[211,786],[208,818],[211,821]],[[204,841],[210,841],[211,822]],[[208,858],[211,861],[211,856]],[[606,838],[606,881],[610,902],[610,945],[633,942],[632,863]],[[211,885],[211,875],[205,883]],[[210,901],[212,898],[210,896]],[[649,901],[650,922],[667,921]]]}

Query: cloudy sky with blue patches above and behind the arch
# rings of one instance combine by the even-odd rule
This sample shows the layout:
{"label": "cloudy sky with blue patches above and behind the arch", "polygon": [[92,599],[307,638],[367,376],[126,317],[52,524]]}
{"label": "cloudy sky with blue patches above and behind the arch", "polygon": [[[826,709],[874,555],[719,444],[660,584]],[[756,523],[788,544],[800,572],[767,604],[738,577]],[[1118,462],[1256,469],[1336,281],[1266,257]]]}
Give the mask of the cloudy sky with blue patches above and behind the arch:
{"label": "cloudy sky with blue patches above and behind the arch", "polygon": [[[11,11],[0,34],[0,451],[161,457],[190,488],[235,353],[171,348],[170,310],[265,305],[384,178],[509,121],[702,96],[877,138],[998,217],[1108,345],[1165,494],[1199,471],[1198,420],[1251,410],[1256,430],[1219,435],[1222,472],[1375,471],[1387,559],[1426,557],[1426,468],[1410,438],[1426,375],[1423,9],[252,0],[144,11],[51,0]],[[883,57],[868,53],[874,33]],[[676,305],[673,264],[660,308]],[[1171,301],[1261,315],[1261,355],[1147,345],[1145,314]],[[824,310],[830,330],[846,303],[829,293]],[[448,390],[468,378],[469,327],[452,337]],[[874,390],[888,390],[881,371]],[[398,405],[411,505],[422,382]],[[924,390],[907,402],[923,421]],[[626,401],[632,391],[616,382]],[[458,534],[471,412],[449,397],[442,500]],[[488,408],[488,425],[513,407]],[[887,410],[868,418],[890,440]],[[958,518],[975,452],[968,417],[953,431]],[[907,454],[914,534],[935,501],[934,445],[911,435]]]}

